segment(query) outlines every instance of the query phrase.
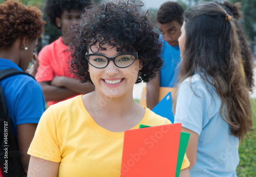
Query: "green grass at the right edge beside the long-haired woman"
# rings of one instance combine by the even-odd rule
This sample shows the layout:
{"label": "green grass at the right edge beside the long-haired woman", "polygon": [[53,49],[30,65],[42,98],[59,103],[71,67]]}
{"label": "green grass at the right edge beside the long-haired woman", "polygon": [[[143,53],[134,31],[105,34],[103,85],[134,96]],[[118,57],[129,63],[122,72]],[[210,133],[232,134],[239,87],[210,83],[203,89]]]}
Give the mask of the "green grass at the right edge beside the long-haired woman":
{"label": "green grass at the right edge beside the long-haired woman", "polygon": [[252,112],[254,135],[251,138],[246,137],[243,144],[239,146],[240,164],[237,175],[241,177],[256,176],[256,99],[252,102]]}

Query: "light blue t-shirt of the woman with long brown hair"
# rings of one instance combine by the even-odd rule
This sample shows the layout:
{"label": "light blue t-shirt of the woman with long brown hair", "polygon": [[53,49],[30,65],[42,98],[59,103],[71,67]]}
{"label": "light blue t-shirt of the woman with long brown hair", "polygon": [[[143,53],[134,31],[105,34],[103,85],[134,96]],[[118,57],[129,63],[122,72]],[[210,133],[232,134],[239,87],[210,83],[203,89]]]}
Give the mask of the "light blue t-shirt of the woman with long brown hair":
{"label": "light blue t-shirt of the woman with long brown hair", "polygon": [[[191,87],[190,87],[191,79]],[[221,99],[215,88],[195,74],[181,83],[174,123],[199,135],[197,162],[191,176],[237,176],[239,139],[220,115]],[[194,92],[195,93],[194,93]]]}

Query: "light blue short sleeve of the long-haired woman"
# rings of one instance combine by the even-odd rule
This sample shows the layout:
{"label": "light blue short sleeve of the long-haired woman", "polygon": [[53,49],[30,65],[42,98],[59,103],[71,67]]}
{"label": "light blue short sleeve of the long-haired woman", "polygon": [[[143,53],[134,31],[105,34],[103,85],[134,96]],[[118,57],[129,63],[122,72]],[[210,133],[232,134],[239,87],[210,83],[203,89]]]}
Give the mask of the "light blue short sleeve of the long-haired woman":
{"label": "light blue short sleeve of the long-haired woman", "polygon": [[174,123],[182,123],[182,127],[200,135],[207,99],[206,88],[199,78],[191,83],[188,79],[182,82],[177,95]]}

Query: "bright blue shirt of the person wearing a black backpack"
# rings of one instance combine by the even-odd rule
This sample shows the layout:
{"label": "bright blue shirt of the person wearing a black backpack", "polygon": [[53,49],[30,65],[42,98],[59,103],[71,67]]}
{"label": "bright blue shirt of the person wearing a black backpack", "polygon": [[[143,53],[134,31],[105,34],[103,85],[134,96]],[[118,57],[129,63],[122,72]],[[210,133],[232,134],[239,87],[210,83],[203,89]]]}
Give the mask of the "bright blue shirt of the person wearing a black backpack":
{"label": "bright blue shirt of the person wearing a black backpack", "polygon": [[[14,62],[0,59],[0,70],[14,68],[22,71]],[[0,81],[3,88],[8,113],[13,122],[13,132],[17,137],[17,125],[38,123],[45,111],[45,98],[40,85],[25,74],[12,75]]]}

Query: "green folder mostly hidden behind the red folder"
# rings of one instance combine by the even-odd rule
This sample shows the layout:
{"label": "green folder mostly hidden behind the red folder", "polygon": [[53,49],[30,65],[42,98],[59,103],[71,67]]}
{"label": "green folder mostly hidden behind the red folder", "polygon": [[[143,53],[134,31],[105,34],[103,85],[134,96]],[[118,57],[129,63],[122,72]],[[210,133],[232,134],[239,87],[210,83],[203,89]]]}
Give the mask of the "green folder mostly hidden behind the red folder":
{"label": "green folder mostly hidden behind the red folder", "polygon": [[[151,127],[151,126],[140,124],[139,128],[142,129],[142,128],[147,128],[147,127]],[[179,151],[178,151],[178,159],[177,159],[175,177],[178,177],[179,174],[180,174],[180,169],[181,169],[181,165],[182,165],[182,162],[183,162],[183,159],[184,159],[184,155],[186,153],[186,148],[187,148],[187,143],[188,143],[188,140],[189,140],[189,136],[190,136],[189,133],[184,133],[184,132],[180,133],[180,144],[179,144]]]}

